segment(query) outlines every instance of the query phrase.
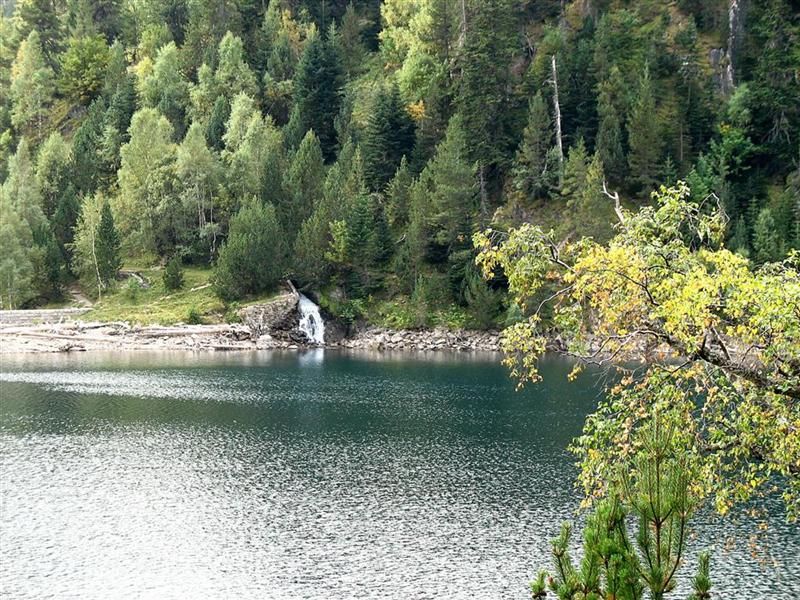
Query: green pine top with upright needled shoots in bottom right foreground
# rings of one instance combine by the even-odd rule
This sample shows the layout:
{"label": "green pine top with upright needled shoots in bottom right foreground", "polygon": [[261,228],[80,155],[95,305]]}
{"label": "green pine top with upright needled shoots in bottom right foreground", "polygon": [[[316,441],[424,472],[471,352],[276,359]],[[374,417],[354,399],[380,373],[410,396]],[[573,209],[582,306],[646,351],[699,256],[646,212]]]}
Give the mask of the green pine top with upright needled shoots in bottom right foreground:
{"label": "green pine top with upright needled shoots in bottom right foreground", "polygon": [[[570,556],[572,528],[564,523],[553,540],[554,573],[531,582],[532,598],[546,598],[548,587],[559,600],[640,600],[645,590],[661,600],[674,590],[698,506],[692,486],[697,462],[683,452],[682,435],[678,423],[659,416],[640,430],[640,449],[587,518],[580,563]],[[633,541],[629,517],[638,523]],[[708,598],[711,587],[708,554],[698,561],[695,600]]]}

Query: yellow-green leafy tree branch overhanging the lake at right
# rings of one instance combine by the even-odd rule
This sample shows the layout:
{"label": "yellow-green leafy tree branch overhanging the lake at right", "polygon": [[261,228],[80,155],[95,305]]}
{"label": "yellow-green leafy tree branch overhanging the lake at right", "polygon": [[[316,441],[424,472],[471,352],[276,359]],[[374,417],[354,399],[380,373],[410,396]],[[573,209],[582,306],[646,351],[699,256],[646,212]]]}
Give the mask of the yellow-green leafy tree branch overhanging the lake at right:
{"label": "yellow-green leafy tree branch overhanging the lake at right", "polygon": [[[589,497],[636,449],[636,431],[658,411],[682,423],[697,456],[700,496],[721,513],[769,491],[780,477],[790,519],[800,513],[800,255],[753,270],[722,246],[726,217],[691,201],[684,183],[631,213],[617,234],[557,242],[523,225],[476,234],[484,275],[502,273],[526,318],[504,332],[506,363],[539,379],[549,340],[579,365],[625,372],[574,445]],[[665,356],[677,361],[664,361]]]}

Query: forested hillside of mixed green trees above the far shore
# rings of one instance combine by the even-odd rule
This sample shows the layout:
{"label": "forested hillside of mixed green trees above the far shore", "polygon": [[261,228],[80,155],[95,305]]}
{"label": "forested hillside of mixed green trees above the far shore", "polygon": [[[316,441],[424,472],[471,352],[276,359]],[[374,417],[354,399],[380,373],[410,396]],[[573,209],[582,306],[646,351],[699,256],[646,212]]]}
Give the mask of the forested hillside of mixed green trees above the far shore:
{"label": "forested hillside of mixed green trees above the far shore", "polygon": [[604,188],[636,207],[678,180],[753,265],[800,249],[794,0],[4,9],[2,308],[169,263],[226,303],[289,277],[350,318],[502,324],[476,231],[608,239]]}

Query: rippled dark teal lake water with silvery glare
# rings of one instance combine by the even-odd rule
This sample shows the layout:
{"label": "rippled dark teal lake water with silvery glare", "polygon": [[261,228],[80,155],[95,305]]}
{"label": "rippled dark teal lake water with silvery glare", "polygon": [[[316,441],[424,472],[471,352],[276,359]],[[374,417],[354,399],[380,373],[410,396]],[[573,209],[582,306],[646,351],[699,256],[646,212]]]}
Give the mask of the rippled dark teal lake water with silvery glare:
{"label": "rippled dark teal lake water with silvery glare", "polygon": [[[520,393],[496,361],[3,357],[0,597],[527,598],[598,376],[550,360]],[[769,509],[755,554],[749,519],[697,518],[714,597],[800,596]]]}

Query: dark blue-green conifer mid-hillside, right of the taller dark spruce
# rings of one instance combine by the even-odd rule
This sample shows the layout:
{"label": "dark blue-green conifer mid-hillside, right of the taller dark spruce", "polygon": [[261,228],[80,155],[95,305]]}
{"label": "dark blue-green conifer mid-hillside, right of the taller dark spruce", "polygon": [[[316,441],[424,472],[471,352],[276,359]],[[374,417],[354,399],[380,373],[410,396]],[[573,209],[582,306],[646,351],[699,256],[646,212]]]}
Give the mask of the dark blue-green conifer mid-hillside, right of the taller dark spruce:
{"label": "dark blue-green conifer mid-hillside, right of the taller dark spruce", "polygon": [[410,156],[414,148],[414,123],[396,83],[388,90],[378,90],[361,148],[367,184],[373,191],[382,191],[401,159]]}

